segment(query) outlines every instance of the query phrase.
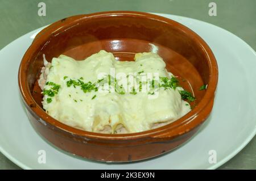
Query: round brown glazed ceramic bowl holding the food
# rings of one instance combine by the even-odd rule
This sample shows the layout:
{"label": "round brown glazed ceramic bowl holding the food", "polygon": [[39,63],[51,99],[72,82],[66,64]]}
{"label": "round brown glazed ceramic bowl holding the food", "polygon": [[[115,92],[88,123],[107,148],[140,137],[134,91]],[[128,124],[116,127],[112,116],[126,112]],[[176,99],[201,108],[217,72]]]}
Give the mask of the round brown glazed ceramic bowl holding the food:
{"label": "round brown glazed ceramic bowl holding the food", "polygon": [[[169,71],[187,80],[181,83],[195,93],[195,108],[174,123],[130,134],[86,132],[47,115],[42,95],[34,92],[42,55],[48,61],[60,54],[82,60],[101,49],[118,60],[132,60],[138,52],[158,53]],[[144,12],[110,11],[64,18],[44,28],[24,54],[18,79],[31,124],[53,145],[97,161],[130,162],[166,153],[196,133],[212,110],[218,69],[208,45],[189,28]],[[208,89],[199,91],[203,84]]]}

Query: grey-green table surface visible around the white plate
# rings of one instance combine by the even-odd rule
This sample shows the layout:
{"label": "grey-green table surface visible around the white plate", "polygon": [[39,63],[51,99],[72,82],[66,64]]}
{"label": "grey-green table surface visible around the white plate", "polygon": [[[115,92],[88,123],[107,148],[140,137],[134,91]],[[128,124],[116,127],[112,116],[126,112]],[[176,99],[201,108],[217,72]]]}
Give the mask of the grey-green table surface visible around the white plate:
{"label": "grey-green table surface visible around the white plate", "polygon": [[[38,3],[46,3],[46,16]],[[209,16],[209,3],[217,16]],[[56,20],[97,11],[133,10],[187,16],[222,27],[256,49],[256,0],[0,0],[0,49],[18,37]],[[0,153],[0,169],[20,169]],[[219,169],[256,169],[256,137]]]}

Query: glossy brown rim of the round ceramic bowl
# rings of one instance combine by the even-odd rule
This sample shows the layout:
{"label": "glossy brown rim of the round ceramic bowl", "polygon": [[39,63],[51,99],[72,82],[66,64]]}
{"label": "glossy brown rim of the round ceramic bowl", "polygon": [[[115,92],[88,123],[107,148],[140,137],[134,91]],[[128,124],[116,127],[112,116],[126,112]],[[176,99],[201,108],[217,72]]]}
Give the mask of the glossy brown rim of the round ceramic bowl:
{"label": "glossy brown rim of the round ceramic bowl", "polygon": [[[34,100],[31,95],[30,89],[27,83],[27,68],[28,68],[28,61],[30,60],[31,54],[34,52],[33,50],[36,47],[39,47],[46,37],[49,37],[52,33],[61,30],[61,28],[68,28],[71,24],[79,24],[77,22],[81,22],[87,20],[88,18],[104,18],[106,16],[132,16],[132,17],[143,17],[147,19],[152,19],[156,21],[160,21],[163,23],[168,24],[169,26],[175,26],[175,28],[179,29],[180,31],[185,32],[191,40],[195,41],[197,45],[199,45],[202,50],[204,51],[205,56],[207,57],[208,61],[208,68],[209,68],[209,82],[207,90],[205,91],[205,95],[203,99],[197,104],[197,106],[188,112],[180,119],[177,119],[173,123],[164,125],[163,127],[150,129],[148,131],[137,132],[137,133],[126,133],[126,134],[105,134],[105,133],[95,133],[84,131],[81,129],[70,127],[66,124],[61,123],[60,121],[54,119],[53,117],[49,116],[46,111],[43,110]],[[30,60],[31,61],[31,60]],[[209,104],[214,99],[214,94],[217,88],[218,82],[218,66],[216,58],[212,50],[209,48],[208,44],[197,35],[197,33],[193,32],[188,27],[180,24],[174,20],[164,18],[163,16],[150,14],[147,12],[138,12],[138,11],[104,11],[104,12],[95,12],[92,14],[84,14],[84,15],[75,15],[70,16],[68,18],[61,19],[55,23],[52,23],[48,27],[44,28],[42,31],[36,35],[34,41],[27,49],[26,53],[24,54],[22,61],[20,62],[19,70],[18,70],[18,84],[20,94],[22,95],[23,102],[26,103],[26,107],[28,111],[34,113],[39,117],[39,121],[45,121],[46,123],[52,125],[53,127],[57,127],[65,132],[71,133],[73,136],[79,137],[87,137],[87,138],[97,138],[100,140],[135,140],[137,138],[145,138],[150,136],[151,138],[172,138],[176,137],[180,134],[184,134],[185,132],[191,131],[193,128],[196,128],[198,125],[203,123],[203,121],[208,117],[212,107],[207,112],[203,118],[196,119],[201,111],[204,108],[209,107]],[[33,105],[33,106],[31,106]],[[179,128],[179,129],[177,129]]]}

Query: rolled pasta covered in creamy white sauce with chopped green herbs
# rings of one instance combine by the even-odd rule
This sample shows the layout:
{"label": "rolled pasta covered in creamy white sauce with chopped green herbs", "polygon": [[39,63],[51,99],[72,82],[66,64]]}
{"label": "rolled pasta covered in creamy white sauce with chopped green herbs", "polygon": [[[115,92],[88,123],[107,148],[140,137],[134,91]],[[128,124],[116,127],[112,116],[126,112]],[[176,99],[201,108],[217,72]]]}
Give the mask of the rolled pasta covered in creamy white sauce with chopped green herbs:
{"label": "rolled pasta covered in creamy white sauce with chopped green herbs", "polygon": [[90,132],[157,128],[191,111],[195,100],[155,53],[137,53],[134,61],[117,61],[105,50],[82,61],[44,58],[38,82],[50,116]]}

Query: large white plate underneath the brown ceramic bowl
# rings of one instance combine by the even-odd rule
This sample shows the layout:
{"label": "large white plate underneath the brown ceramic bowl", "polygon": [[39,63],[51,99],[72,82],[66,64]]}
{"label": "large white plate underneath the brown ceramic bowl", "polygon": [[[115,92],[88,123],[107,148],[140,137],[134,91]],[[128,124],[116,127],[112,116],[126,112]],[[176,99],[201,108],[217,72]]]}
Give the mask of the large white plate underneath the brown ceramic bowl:
{"label": "large white plate underneath the brown ceramic bowl", "polygon": [[[23,169],[215,169],[234,157],[256,133],[256,53],[237,36],[212,24],[159,15],[197,32],[218,61],[212,115],[190,141],[162,157],[125,164],[88,161],[49,145],[31,127],[18,90],[19,63],[39,31],[35,30],[0,51],[0,151]],[[39,150],[46,150],[46,163],[38,163]],[[210,150],[216,150],[217,163],[209,163]]]}

